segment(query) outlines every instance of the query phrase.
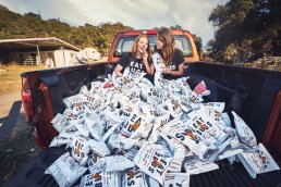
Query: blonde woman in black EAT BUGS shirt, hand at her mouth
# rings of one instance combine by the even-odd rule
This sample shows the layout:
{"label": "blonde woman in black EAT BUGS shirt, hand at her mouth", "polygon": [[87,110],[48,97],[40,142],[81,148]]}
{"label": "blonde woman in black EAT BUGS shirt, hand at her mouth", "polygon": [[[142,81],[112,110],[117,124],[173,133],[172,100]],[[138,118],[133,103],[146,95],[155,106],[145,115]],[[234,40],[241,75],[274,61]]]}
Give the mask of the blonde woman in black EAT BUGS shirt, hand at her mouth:
{"label": "blonde woman in black EAT BUGS shirt, hand at her mouth", "polygon": [[131,73],[139,72],[152,75],[154,64],[150,62],[150,48],[148,37],[139,35],[134,41],[132,52],[124,53],[114,68],[117,76],[122,76],[125,68]]}

